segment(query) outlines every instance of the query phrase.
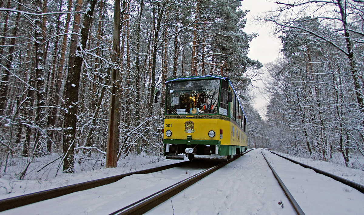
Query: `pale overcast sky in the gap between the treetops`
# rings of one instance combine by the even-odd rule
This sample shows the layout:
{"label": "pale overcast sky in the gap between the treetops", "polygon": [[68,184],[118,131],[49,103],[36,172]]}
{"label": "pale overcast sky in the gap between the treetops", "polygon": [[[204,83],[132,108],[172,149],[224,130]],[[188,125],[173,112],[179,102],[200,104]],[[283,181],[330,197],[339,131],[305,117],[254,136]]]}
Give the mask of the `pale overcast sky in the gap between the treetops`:
{"label": "pale overcast sky in the gap between the treetops", "polygon": [[[280,50],[280,40],[272,35],[272,30],[268,25],[257,25],[252,17],[261,13],[274,9],[277,4],[267,0],[244,0],[241,2],[241,9],[249,9],[250,12],[246,16],[247,23],[244,32],[250,34],[258,33],[258,37],[249,43],[250,49],[248,57],[253,60],[259,60],[263,65],[272,62],[278,58]],[[253,85],[260,88],[263,87],[261,81],[253,82]],[[257,97],[254,101],[254,107],[259,111],[262,118],[265,118],[265,106],[267,104],[260,89],[254,89]]]}

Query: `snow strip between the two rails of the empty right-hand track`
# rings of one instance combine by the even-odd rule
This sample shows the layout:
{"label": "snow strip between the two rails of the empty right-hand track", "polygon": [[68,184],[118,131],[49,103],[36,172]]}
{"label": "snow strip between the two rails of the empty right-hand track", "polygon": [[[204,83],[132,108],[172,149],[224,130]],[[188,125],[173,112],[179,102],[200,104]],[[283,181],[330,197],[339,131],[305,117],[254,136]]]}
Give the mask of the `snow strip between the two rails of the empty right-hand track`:
{"label": "snow strip between the two rails of the empty right-hand track", "polygon": [[[364,194],[356,189],[267,150],[264,154],[305,214],[364,213]],[[320,162],[320,167],[327,170],[332,165]]]}

